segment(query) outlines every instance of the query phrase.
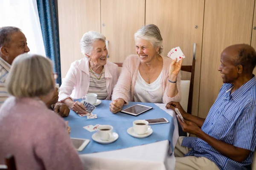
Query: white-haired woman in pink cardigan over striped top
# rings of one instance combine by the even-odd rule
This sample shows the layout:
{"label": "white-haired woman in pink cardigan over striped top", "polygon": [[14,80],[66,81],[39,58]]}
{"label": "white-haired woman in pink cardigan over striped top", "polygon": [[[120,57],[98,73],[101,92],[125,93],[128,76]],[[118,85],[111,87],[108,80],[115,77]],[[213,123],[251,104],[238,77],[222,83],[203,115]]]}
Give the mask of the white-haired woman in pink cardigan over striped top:
{"label": "white-haired woman in pink cardigan over striped top", "polygon": [[110,100],[119,77],[118,66],[107,61],[106,37],[95,31],[85,33],[80,47],[84,58],[73,62],[60,87],[59,101],[76,113],[86,114],[81,102],[74,102],[87,93],[97,94],[98,99]]}

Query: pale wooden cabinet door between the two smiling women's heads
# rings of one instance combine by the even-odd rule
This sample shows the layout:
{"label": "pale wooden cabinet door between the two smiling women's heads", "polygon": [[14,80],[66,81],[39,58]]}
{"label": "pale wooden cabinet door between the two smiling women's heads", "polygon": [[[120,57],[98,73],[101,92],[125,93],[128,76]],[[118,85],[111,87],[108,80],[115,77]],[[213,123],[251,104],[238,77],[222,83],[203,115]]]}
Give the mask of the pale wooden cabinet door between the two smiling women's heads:
{"label": "pale wooden cabinet door between the two smiling women's heads", "polygon": [[145,0],[101,0],[101,32],[108,40],[108,61],[136,54],[134,33],[145,24]]}

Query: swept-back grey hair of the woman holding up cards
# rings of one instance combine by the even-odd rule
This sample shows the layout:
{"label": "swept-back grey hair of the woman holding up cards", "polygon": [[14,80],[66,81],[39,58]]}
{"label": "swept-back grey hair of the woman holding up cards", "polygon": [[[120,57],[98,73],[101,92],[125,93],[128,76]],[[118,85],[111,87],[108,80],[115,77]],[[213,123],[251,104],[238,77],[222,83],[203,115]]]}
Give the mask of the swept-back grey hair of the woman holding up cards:
{"label": "swept-back grey hair of the woman holding up cards", "polygon": [[160,34],[159,28],[154,24],[142,26],[135,34],[134,38],[140,37],[144,40],[150,41],[154,48],[159,47],[158,54],[163,51],[163,38]]}

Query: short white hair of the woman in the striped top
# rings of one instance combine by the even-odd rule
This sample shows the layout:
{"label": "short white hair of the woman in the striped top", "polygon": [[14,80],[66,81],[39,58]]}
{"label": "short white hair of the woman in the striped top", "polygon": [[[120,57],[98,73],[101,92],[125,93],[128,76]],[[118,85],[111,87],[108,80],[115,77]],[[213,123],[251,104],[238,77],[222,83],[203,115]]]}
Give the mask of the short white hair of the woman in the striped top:
{"label": "short white hair of the woman in the striped top", "polygon": [[[106,37],[103,34],[100,34],[96,31],[88,31],[85,33],[80,41],[81,53],[84,55],[90,55],[91,51],[93,50],[93,42],[99,40],[106,43]],[[87,57],[85,58],[88,59]]]}

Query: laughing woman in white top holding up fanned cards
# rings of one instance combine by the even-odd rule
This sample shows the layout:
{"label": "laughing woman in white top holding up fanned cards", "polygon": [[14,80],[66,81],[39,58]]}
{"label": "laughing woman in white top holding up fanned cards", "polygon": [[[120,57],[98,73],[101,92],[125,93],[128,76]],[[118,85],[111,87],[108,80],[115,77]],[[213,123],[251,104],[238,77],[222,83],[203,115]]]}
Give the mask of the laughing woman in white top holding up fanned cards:
{"label": "laughing woman in white top holding up fanned cards", "polygon": [[113,90],[110,111],[121,111],[129,101],[168,103],[180,101],[180,68],[176,62],[162,57],[163,39],[157,26],[141,27],[135,34],[137,55],[128,56]]}

